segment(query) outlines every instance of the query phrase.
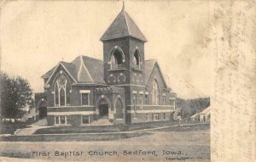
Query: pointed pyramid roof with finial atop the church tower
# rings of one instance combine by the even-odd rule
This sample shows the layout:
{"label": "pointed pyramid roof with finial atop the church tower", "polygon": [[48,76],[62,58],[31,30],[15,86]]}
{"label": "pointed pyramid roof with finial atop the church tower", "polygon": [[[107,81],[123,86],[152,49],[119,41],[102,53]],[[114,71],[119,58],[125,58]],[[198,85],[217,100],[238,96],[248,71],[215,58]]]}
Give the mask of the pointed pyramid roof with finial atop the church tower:
{"label": "pointed pyramid roof with finial atop the church tower", "polygon": [[125,12],[125,5],[118,16],[113,20],[113,23],[108,27],[108,30],[101,37],[101,41],[110,39],[131,36],[143,42],[147,42],[142,31],[137,27],[131,16]]}

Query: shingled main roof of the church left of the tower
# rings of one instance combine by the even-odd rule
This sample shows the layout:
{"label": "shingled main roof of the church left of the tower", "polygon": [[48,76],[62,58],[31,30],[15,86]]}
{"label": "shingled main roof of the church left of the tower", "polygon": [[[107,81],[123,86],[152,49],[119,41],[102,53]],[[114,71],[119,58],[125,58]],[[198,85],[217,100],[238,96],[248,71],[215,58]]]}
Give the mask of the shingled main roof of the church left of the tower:
{"label": "shingled main roof of the church left of the tower", "polygon": [[42,77],[48,79],[47,82],[49,82],[52,75],[55,73],[55,70],[60,65],[67,70],[67,73],[71,75],[73,80],[77,83],[106,84],[103,79],[104,73],[102,60],[82,55],[74,59],[71,63],[60,62],[55,65],[54,68],[42,75]]}

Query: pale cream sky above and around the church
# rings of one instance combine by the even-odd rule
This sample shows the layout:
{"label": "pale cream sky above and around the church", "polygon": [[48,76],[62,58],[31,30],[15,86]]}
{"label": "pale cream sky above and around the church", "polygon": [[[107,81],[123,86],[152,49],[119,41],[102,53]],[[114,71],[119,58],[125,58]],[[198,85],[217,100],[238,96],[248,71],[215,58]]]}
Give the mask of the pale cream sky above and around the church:
{"label": "pale cream sky above and around the church", "polygon": [[[9,1],[1,10],[1,70],[44,92],[41,75],[79,55],[102,59],[103,33],[121,1]],[[177,97],[212,93],[213,57],[208,1],[125,1],[148,39],[145,59],[157,59]]]}

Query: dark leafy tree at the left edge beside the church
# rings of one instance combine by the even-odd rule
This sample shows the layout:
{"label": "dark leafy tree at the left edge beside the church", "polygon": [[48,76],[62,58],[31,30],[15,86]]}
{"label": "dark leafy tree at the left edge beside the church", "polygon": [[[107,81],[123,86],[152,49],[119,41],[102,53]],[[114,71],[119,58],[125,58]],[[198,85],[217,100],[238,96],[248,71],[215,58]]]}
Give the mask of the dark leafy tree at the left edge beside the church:
{"label": "dark leafy tree at the left edge beside the church", "polygon": [[1,72],[1,115],[3,118],[20,118],[25,109],[32,107],[32,88],[20,76],[10,78]]}

